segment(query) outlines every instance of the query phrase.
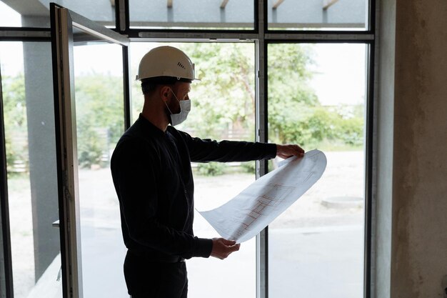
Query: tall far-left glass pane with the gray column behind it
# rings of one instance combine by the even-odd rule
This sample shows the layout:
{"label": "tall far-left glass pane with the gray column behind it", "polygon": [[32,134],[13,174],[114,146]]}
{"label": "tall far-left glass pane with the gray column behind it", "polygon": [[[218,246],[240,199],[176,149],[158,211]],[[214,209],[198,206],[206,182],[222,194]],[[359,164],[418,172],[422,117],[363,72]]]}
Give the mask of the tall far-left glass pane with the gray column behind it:
{"label": "tall far-left glass pane with the gray column behind it", "polygon": [[62,297],[51,44],[1,42],[0,65],[14,297]]}

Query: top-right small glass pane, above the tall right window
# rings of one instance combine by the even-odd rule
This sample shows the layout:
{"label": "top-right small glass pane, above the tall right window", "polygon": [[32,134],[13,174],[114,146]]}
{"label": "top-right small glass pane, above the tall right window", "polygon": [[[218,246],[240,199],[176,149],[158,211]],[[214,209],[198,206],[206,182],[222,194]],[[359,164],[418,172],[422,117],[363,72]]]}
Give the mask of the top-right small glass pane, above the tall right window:
{"label": "top-right small glass pane, above the tall right window", "polygon": [[268,29],[366,30],[368,0],[268,0]]}

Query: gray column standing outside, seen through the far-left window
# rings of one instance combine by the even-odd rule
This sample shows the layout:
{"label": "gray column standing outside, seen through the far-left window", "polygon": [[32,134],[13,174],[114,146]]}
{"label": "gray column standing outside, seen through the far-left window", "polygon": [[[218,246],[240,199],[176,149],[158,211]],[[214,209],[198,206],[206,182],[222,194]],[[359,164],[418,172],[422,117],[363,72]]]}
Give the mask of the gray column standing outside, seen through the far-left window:
{"label": "gray column standing outside, seen through the far-left window", "polygon": [[25,42],[24,67],[37,281],[60,251],[51,44]]}

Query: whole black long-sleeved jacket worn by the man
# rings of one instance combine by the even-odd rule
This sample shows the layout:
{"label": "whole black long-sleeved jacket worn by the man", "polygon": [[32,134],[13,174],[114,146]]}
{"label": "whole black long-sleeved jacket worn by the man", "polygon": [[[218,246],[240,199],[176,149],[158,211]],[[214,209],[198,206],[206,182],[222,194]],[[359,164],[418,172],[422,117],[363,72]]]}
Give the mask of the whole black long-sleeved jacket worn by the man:
{"label": "whole black long-sleeved jacket worn by the man", "polygon": [[154,261],[209,257],[211,239],[194,237],[191,162],[244,162],[276,156],[275,144],[193,138],[173,126],[161,131],[143,116],[111,158],[124,244]]}

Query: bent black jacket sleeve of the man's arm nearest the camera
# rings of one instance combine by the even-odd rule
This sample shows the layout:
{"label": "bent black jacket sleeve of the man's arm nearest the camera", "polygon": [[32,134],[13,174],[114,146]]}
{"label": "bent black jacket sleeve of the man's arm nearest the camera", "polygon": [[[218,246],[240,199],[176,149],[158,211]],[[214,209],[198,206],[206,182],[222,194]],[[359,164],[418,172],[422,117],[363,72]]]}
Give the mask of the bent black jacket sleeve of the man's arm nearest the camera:
{"label": "bent black jacket sleeve of the man's arm nearest the camera", "polygon": [[[143,141],[128,140],[117,146],[111,172],[129,237],[144,247],[189,259],[209,257],[211,239],[201,239],[161,224],[156,217],[159,200],[154,158]],[[124,223],[122,223],[124,224]]]}

